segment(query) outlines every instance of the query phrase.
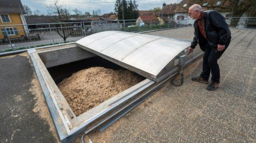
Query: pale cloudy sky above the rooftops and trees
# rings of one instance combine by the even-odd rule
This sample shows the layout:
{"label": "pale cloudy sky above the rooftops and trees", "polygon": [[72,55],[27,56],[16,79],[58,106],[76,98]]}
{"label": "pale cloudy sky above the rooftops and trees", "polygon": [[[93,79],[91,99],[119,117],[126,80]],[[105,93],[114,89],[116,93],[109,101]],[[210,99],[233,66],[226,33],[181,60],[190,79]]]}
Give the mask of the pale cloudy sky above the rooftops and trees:
{"label": "pale cloudy sky above the rooftops and trees", "polygon": [[[82,11],[83,13],[88,11],[92,14],[93,10],[101,10],[101,15],[105,13],[109,13],[114,11],[114,4],[116,0],[59,0],[60,4],[66,6],[67,9],[71,10],[77,8],[78,10]],[[132,0],[133,1],[133,0]],[[149,10],[155,7],[161,7],[163,2],[166,4],[170,3],[178,3],[181,0],[137,0],[136,3],[138,4],[139,10]],[[47,5],[52,5],[54,0],[21,0],[22,4],[25,4],[31,8],[32,12],[36,9],[47,13]]]}

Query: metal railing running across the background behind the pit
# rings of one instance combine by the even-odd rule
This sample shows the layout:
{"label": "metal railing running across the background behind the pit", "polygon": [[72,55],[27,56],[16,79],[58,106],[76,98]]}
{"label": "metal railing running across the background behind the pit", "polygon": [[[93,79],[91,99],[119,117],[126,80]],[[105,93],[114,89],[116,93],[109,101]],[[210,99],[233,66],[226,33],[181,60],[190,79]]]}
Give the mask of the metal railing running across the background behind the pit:
{"label": "metal railing running across the background behind the pit", "polygon": [[[226,21],[230,27],[256,28],[256,18],[254,17],[228,17]],[[0,25],[0,52],[74,42],[84,36],[101,31],[142,32],[184,27],[193,23],[194,20],[190,18],[169,18],[163,21],[159,21],[159,19],[131,19],[125,21]]]}

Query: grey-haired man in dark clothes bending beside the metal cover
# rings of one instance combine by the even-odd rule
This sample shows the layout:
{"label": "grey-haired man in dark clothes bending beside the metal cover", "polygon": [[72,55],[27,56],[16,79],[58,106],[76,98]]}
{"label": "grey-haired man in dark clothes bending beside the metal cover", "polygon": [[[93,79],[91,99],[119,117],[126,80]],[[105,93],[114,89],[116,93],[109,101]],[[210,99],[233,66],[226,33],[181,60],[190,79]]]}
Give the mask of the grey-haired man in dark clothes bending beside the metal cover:
{"label": "grey-haired man in dark clothes bending beside the metal cover", "polygon": [[188,16],[194,21],[194,38],[188,51],[199,44],[204,51],[203,72],[198,77],[192,77],[192,81],[208,83],[211,73],[211,82],[207,86],[208,90],[215,90],[220,83],[220,68],[218,59],[228,48],[231,32],[225,18],[216,10],[203,11],[202,7],[194,4],[188,10]]}

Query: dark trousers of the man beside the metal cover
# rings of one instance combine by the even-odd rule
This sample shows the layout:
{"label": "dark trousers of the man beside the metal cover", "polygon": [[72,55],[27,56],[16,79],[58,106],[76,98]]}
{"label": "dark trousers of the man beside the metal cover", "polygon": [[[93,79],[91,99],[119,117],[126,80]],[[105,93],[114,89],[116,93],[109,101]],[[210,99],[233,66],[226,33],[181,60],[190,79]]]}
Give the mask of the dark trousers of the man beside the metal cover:
{"label": "dark trousers of the man beside the metal cover", "polygon": [[222,51],[217,51],[217,47],[210,47],[209,44],[206,43],[203,57],[203,72],[200,75],[205,80],[209,79],[211,73],[211,80],[220,83],[220,67],[218,66],[217,61],[228,48],[229,43],[230,39],[227,41],[225,48]]}

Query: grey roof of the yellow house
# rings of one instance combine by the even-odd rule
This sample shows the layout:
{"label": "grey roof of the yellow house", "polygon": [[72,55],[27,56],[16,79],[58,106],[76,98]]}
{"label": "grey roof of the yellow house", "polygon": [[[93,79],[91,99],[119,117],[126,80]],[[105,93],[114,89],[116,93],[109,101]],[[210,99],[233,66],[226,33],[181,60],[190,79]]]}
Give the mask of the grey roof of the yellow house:
{"label": "grey roof of the yellow house", "polygon": [[20,0],[0,0],[0,13],[26,14]]}

